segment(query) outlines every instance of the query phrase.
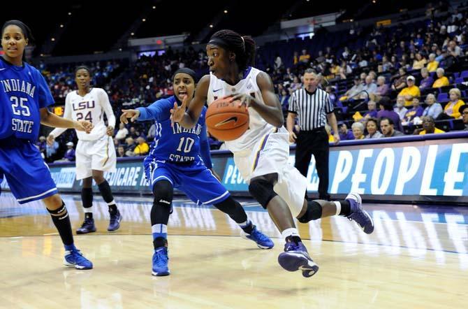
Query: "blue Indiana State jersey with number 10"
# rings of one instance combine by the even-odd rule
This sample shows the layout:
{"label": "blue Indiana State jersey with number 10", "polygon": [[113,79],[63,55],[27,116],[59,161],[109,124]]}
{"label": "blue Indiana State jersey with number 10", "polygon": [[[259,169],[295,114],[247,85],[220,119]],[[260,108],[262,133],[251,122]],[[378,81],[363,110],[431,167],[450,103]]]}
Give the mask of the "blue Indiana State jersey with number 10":
{"label": "blue Indiana State jersey with number 10", "polygon": [[187,164],[199,161],[201,155],[205,166],[212,168],[205,125],[206,108],[203,107],[200,118],[192,129],[185,129],[177,122],[172,127],[170,109],[174,107],[175,102],[175,96],[171,96],[158,100],[147,108],[137,108],[140,110],[139,121],[155,120],[156,137],[148,157],[175,164]]}

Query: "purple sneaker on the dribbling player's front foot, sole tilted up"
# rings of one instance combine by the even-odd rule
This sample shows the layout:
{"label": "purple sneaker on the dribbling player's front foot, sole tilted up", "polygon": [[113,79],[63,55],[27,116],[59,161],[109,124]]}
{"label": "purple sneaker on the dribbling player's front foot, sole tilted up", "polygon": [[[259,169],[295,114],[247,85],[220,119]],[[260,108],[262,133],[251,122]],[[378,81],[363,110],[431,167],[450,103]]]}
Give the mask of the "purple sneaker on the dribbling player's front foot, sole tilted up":
{"label": "purple sneaker on the dribbling player's front foot, sole tilted up", "polygon": [[312,277],[319,271],[319,266],[309,257],[309,253],[302,242],[297,245],[293,241],[286,243],[284,252],[281,252],[278,256],[278,263],[286,271],[302,271],[305,278]]}

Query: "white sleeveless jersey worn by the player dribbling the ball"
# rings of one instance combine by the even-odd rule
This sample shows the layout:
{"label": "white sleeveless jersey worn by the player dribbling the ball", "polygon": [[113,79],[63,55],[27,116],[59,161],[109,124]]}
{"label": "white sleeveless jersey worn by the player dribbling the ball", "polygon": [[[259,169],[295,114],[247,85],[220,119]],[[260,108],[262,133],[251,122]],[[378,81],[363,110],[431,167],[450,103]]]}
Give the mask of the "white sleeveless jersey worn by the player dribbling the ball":
{"label": "white sleeveless jersey worn by the player dribbling the ball", "polygon": [[[255,68],[249,68],[244,73],[242,80],[236,85],[229,85],[224,80],[220,80],[210,73],[210,87],[208,88],[207,103],[210,105],[212,101],[228,96],[233,93],[249,94],[257,101],[263,102],[263,97],[257,85],[257,76],[261,71]],[[253,146],[259,138],[265,136],[275,128],[272,124],[266,122],[260,114],[249,107],[249,129],[245,131],[240,138],[234,141],[226,141],[226,147],[231,152],[239,152]]]}

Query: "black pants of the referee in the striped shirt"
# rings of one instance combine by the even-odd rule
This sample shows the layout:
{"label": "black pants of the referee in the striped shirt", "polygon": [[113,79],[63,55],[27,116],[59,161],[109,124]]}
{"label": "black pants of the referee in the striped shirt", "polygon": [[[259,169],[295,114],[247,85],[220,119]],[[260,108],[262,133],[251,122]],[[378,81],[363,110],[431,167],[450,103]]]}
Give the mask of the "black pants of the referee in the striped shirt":
{"label": "black pants of the referee in the striped shirt", "polygon": [[307,177],[310,159],[315,157],[317,174],[319,175],[319,199],[330,199],[328,195],[328,134],[324,128],[312,131],[300,131],[296,139],[295,168]]}

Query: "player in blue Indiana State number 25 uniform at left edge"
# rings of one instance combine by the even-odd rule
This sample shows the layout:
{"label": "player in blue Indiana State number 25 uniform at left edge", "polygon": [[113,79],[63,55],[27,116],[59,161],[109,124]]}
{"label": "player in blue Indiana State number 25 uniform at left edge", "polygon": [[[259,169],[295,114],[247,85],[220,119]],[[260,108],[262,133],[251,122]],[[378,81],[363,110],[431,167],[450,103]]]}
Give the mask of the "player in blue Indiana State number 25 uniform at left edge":
{"label": "player in blue Indiana State number 25 uniform at left edge", "polygon": [[19,20],[10,20],[1,28],[5,54],[0,57],[0,182],[4,175],[20,204],[42,200],[65,245],[64,264],[91,269],[92,262],[73,244],[65,203],[34,142],[40,124],[87,133],[93,126],[87,121],[62,119],[47,110],[54,103],[47,82],[24,62],[24,48],[31,40],[31,30]]}

